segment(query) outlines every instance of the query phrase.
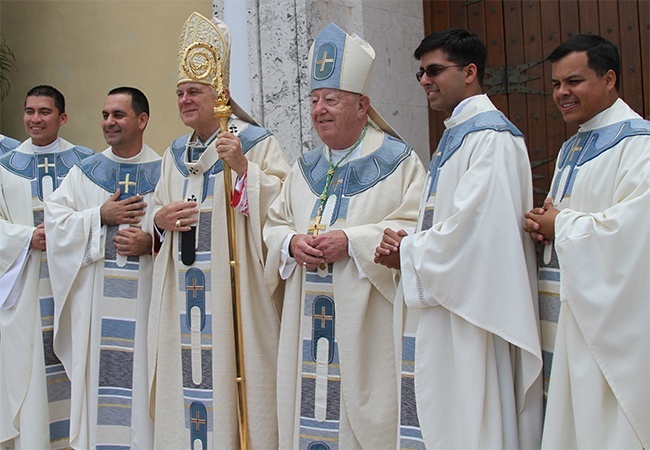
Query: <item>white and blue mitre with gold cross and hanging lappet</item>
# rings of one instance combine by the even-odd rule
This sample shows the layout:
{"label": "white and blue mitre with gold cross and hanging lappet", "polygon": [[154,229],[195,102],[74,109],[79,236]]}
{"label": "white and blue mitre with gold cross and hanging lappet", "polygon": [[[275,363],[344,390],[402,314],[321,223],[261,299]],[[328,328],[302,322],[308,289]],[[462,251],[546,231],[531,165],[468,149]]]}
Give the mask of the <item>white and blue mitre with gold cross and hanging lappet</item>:
{"label": "white and blue mitre with gold cross and hanging lappet", "polygon": [[[330,23],[309,50],[309,92],[338,89],[368,95],[374,62],[375,50],[368,42]],[[401,139],[372,105],[368,117],[383,131]]]}

